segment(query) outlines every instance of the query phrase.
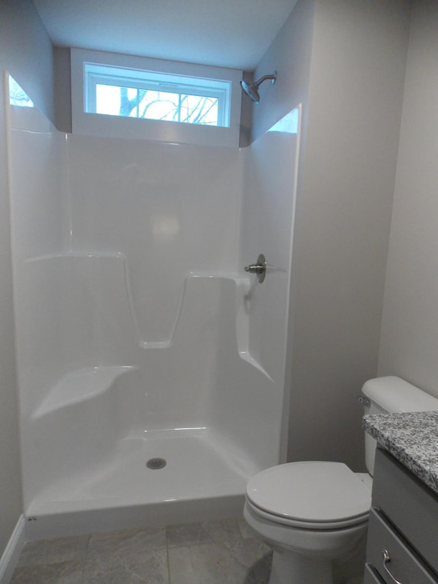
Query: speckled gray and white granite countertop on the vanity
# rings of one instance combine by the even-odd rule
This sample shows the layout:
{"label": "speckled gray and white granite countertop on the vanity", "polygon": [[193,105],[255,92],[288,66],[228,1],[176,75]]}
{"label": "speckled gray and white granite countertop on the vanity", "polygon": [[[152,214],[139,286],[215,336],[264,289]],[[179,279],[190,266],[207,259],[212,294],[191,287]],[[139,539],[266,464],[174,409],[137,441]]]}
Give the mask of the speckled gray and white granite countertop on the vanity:
{"label": "speckled gray and white granite countertop on the vanity", "polygon": [[438,494],[438,411],[363,416],[363,429]]}

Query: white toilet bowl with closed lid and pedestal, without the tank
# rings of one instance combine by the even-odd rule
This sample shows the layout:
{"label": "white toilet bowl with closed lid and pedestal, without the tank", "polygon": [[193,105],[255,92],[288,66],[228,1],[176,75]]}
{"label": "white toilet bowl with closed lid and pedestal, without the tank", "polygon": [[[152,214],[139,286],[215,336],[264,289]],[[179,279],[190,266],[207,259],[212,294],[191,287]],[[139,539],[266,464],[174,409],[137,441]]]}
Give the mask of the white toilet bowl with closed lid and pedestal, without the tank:
{"label": "white toilet bowl with closed lid and pedestal, without the tank", "polygon": [[250,479],[244,518],[274,550],[270,584],[332,584],[333,560],[365,541],[370,504],[370,485],[342,463],[292,462]]}

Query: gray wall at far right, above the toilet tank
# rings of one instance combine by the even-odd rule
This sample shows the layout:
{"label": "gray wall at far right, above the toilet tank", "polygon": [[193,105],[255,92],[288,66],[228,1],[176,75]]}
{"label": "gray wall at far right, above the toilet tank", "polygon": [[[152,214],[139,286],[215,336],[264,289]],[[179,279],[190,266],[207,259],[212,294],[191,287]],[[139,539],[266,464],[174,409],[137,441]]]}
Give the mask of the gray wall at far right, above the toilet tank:
{"label": "gray wall at far right, above the toilet tank", "polygon": [[378,373],[438,397],[438,3],[417,0],[404,88]]}

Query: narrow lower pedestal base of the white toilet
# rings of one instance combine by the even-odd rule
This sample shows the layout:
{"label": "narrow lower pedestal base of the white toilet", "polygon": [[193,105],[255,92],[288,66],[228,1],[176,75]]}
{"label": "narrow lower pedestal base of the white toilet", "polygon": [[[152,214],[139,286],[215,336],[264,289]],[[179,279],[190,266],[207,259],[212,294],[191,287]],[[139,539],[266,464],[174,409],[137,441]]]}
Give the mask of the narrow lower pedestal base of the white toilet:
{"label": "narrow lower pedestal base of the white toilet", "polygon": [[333,584],[332,562],[274,550],[269,584]]}

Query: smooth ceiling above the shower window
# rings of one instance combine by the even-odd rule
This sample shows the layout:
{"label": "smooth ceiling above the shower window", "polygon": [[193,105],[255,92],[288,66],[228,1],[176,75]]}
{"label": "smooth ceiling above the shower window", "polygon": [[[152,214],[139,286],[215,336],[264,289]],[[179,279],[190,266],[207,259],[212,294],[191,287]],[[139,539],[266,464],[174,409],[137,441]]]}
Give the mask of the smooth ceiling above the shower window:
{"label": "smooth ceiling above the shower window", "polygon": [[53,45],[253,71],[296,0],[34,0]]}

